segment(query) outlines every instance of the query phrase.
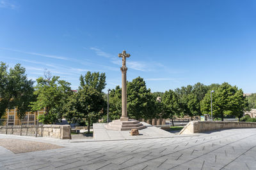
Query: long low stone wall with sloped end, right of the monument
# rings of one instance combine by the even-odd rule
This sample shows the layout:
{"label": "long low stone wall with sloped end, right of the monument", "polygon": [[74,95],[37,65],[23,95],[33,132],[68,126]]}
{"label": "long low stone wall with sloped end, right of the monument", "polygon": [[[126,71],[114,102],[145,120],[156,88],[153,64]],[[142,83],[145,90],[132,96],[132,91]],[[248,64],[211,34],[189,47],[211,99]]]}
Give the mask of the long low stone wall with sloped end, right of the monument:
{"label": "long low stone wall with sloped end, right of the monument", "polygon": [[179,134],[193,134],[218,129],[236,129],[236,128],[256,128],[256,123],[253,122],[206,122],[206,121],[191,121]]}

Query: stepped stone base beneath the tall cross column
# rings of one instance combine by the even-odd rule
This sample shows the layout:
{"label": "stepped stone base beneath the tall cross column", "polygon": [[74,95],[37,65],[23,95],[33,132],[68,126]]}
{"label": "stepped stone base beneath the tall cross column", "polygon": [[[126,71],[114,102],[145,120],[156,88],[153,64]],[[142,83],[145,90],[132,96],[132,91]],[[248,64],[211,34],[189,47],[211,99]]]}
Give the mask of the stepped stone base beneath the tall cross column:
{"label": "stepped stone base beneath the tall cross column", "polygon": [[110,122],[109,124],[106,124],[106,129],[111,129],[115,131],[130,131],[131,129],[144,129],[146,128],[145,125],[138,122],[138,120],[113,120],[113,122]]}

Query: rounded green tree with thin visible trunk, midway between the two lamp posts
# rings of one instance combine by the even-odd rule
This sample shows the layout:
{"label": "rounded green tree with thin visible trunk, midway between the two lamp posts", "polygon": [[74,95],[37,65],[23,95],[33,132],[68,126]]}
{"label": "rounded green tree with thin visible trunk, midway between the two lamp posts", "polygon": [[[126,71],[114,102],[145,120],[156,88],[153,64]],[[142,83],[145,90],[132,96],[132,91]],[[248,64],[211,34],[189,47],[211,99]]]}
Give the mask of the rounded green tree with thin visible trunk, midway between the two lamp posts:
{"label": "rounded green tree with thin visible trunk, midway between the two lamp posts", "polygon": [[164,92],[162,103],[163,118],[170,118],[172,120],[172,125],[174,126],[173,117],[179,117],[182,112],[179,97],[173,90],[166,91]]}

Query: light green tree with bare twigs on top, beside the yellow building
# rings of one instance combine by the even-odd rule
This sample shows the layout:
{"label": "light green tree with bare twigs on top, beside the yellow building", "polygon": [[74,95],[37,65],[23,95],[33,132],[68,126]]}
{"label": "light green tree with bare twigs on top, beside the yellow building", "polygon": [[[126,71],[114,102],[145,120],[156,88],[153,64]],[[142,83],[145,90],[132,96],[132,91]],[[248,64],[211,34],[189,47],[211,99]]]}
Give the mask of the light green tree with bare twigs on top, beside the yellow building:
{"label": "light green tree with bare twigs on top, beside the yellow building", "polygon": [[38,119],[44,124],[54,124],[61,121],[65,113],[65,104],[68,96],[72,93],[70,83],[59,80],[59,76],[51,76],[49,71],[45,71],[45,78],[36,79],[35,87],[36,101],[31,103],[31,110],[38,111],[45,108],[45,114]]}

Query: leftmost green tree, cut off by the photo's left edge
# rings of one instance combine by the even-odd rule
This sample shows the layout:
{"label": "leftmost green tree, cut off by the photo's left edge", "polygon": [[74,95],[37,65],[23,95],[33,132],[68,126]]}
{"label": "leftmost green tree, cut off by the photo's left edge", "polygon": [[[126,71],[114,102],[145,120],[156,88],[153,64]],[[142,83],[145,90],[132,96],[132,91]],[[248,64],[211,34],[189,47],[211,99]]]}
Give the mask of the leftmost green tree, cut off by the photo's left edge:
{"label": "leftmost green tree, cut off by the photo's left edge", "polygon": [[4,62],[0,64],[0,117],[6,109],[17,108],[19,118],[24,117],[30,110],[29,103],[35,99],[33,96],[33,81],[28,80],[26,69],[16,64],[8,71]]}

